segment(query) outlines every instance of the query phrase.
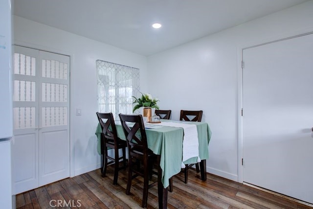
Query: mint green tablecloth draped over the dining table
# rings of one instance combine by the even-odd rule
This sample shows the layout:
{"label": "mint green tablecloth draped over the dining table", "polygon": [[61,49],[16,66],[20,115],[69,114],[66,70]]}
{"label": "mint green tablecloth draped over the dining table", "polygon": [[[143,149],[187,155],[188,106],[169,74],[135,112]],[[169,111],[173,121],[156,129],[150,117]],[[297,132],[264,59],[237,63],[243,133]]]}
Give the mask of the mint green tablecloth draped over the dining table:
{"label": "mint green tablecloth draped over the dining table", "polygon": [[[197,126],[199,138],[199,157],[201,160],[207,160],[209,158],[208,143],[211,138],[211,130],[208,124],[206,122],[190,121],[186,121],[185,123],[195,124]],[[118,137],[126,140],[119,121],[116,121],[116,130]],[[97,150],[99,154],[101,154],[101,132],[101,126],[98,124],[95,134],[98,138]],[[166,188],[169,186],[169,178],[178,174],[181,170],[183,129],[169,126],[161,126],[153,129],[146,128],[146,135],[149,149],[151,149],[155,154],[160,155],[162,183],[164,188]],[[183,163],[197,163],[197,157],[191,158]]]}

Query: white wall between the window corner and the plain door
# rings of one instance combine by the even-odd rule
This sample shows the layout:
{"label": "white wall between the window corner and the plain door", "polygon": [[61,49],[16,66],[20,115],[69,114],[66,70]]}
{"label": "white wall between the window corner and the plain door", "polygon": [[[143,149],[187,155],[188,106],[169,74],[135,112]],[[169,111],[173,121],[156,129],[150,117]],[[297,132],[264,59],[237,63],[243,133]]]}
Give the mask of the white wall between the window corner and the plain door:
{"label": "white wall between the window corner and the plain door", "polygon": [[149,77],[158,81],[149,92],[161,109],[171,109],[172,119],[181,109],[203,110],[213,133],[208,172],[241,179],[241,49],[309,31],[313,0],[148,57]]}

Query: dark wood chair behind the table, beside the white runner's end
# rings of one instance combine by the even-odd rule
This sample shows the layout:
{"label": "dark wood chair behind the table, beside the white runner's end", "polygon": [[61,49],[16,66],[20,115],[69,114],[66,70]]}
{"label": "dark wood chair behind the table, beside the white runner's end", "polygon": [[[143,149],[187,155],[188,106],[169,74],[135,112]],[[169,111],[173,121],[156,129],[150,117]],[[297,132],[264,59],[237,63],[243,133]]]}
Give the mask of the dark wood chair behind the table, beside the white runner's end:
{"label": "dark wood chair behind the table, beside the white runner's end", "polygon": [[[199,110],[199,111],[180,110],[179,120],[201,122],[202,113],[203,113],[202,110]],[[196,165],[197,173],[200,172],[199,163],[185,164],[185,168],[183,168],[183,170],[184,170],[184,177],[185,177],[184,178],[185,184],[187,184],[187,182],[188,182],[188,169],[190,167],[192,167],[193,165]]]}

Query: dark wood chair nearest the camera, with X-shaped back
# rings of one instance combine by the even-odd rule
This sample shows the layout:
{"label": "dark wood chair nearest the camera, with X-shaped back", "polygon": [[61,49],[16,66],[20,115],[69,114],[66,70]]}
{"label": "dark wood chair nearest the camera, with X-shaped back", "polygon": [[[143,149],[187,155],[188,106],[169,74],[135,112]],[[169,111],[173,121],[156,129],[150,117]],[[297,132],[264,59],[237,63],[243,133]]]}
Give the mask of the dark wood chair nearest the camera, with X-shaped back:
{"label": "dark wood chair nearest the camera, with X-shaped back", "polygon": [[[157,161],[157,156],[152,152],[152,150],[148,148],[147,136],[142,116],[119,114],[119,118],[121,120],[128,145],[129,171],[126,194],[130,194],[132,179],[136,176],[143,177],[143,195],[141,207],[146,208],[148,201],[148,189],[157,184],[156,181],[149,185],[149,179],[152,179],[152,174],[157,175],[157,172],[154,171],[152,167]],[[129,122],[131,122],[131,126],[129,125]]]}

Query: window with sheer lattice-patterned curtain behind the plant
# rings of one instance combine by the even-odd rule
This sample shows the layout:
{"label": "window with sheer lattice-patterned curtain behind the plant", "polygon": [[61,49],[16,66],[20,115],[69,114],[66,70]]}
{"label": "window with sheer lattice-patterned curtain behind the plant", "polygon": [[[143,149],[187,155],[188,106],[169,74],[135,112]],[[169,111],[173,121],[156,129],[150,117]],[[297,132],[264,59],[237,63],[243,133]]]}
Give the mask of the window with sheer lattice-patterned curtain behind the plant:
{"label": "window with sheer lattice-patterned curtain behind the plant", "polygon": [[133,113],[133,95],[139,93],[139,69],[102,60],[96,61],[98,111],[118,114]]}

